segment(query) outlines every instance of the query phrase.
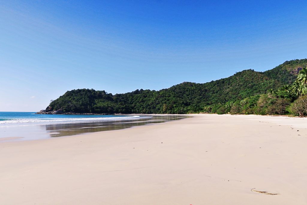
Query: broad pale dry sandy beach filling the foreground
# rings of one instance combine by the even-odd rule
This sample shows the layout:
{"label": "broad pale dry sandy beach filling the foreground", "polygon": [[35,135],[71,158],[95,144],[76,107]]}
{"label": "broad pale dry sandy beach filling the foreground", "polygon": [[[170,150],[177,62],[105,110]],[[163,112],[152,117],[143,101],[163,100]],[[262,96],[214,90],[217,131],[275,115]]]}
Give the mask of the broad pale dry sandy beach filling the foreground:
{"label": "broad pale dry sandy beach filling the foreground", "polygon": [[0,142],[0,204],[307,204],[306,118],[191,116]]}

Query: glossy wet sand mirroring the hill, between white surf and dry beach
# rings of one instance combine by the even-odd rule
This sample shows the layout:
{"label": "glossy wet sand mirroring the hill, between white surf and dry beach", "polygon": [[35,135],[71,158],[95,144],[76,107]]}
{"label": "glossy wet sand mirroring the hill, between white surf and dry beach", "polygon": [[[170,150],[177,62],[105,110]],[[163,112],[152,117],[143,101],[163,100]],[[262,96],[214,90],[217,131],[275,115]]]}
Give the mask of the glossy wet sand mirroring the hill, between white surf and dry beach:
{"label": "glossy wet sand mirroring the hill, between white surf and dry beach", "polygon": [[139,125],[157,124],[180,120],[188,116],[141,116],[133,120],[90,121],[80,123],[57,124],[10,124],[0,126],[0,143],[6,141],[39,140],[49,137],[79,135],[89,132],[101,132],[131,128]]}

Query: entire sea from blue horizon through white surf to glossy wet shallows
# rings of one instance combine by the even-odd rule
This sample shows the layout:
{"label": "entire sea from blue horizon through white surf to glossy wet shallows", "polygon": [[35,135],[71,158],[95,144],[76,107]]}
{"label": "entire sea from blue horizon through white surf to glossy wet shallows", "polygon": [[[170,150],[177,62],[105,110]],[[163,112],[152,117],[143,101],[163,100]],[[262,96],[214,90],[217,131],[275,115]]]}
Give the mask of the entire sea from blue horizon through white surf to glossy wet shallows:
{"label": "entire sea from blue horizon through white surf to glossy wet shallows", "polygon": [[45,115],[35,114],[35,112],[0,112],[0,143],[118,130],[180,120],[186,117],[177,115]]}

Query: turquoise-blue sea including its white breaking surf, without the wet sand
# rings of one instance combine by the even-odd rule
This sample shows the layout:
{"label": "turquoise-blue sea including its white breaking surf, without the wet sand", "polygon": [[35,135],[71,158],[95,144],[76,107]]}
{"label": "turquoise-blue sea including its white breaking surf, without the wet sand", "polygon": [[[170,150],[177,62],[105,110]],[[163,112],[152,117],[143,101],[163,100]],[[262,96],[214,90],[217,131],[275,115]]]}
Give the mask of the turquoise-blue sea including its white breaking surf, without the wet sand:
{"label": "turquoise-blue sea including its white breaking surf, without the wet sand", "polygon": [[127,115],[40,115],[35,112],[0,112],[0,124],[11,123],[67,123],[134,119]]}

